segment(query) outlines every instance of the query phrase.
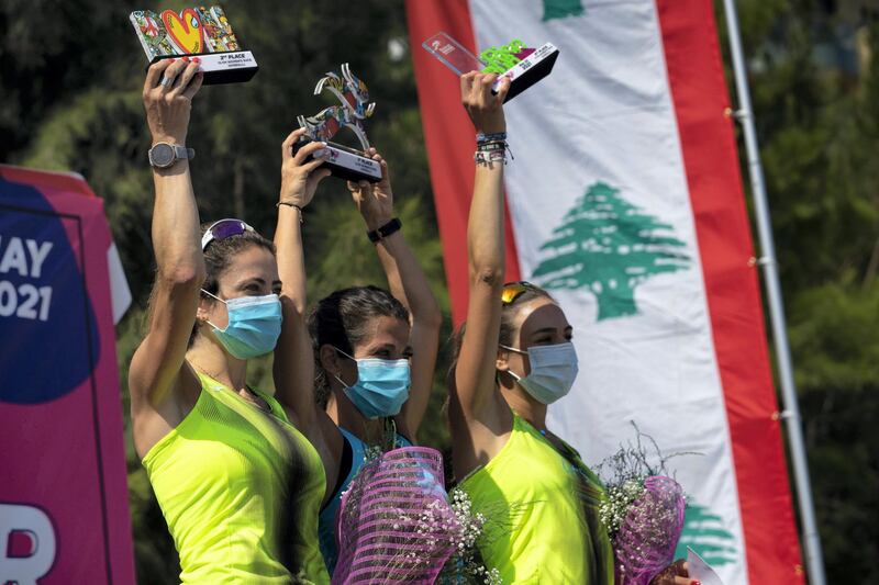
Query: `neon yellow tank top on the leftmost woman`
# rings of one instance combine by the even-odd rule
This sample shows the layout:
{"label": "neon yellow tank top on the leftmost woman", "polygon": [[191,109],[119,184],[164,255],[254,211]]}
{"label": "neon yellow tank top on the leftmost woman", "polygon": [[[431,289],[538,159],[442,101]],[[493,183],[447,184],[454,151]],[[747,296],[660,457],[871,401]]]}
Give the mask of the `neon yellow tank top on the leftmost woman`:
{"label": "neon yellow tank top on the leftmost woman", "polygon": [[199,374],[196,407],[144,457],[183,583],[330,583],[318,548],[325,476],[278,402],[265,413]]}

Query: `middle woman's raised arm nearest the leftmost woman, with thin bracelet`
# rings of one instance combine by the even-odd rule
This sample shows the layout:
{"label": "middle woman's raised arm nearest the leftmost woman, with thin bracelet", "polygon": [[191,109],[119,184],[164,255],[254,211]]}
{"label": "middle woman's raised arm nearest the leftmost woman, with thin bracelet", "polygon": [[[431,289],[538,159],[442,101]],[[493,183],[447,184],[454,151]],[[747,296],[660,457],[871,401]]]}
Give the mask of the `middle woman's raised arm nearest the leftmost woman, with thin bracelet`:
{"label": "middle woman's raised arm nearest the leftmost woman, with thin bracelet", "polygon": [[290,133],[281,145],[281,190],[278,200],[278,227],[275,247],[278,274],[281,279],[283,325],[275,347],[275,389],[297,426],[309,436],[321,432],[319,407],[314,401],[314,353],[305,323],[305,257],[302,250],[302,213],[311,203],[318,183],[330,175],[316,170],[322,158],[305,162],[309,155],[322,148],[319,142],[302,147],[292,155],[293,143],[303,134]]}

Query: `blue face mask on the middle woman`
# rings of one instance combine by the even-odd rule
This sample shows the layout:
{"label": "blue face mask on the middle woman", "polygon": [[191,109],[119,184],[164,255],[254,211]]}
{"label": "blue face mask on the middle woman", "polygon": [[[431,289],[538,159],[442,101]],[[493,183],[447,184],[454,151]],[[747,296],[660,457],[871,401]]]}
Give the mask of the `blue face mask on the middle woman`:
{"label": "blue face mask on the middle woman", "polygon": [[337,375],[345,395],[367,418],[394,416],[409,398],[412,379],[409,360],[380,360],[377,358],[353,358],[338,348],[336,351],[357,362],[357,382],[347,385]]}

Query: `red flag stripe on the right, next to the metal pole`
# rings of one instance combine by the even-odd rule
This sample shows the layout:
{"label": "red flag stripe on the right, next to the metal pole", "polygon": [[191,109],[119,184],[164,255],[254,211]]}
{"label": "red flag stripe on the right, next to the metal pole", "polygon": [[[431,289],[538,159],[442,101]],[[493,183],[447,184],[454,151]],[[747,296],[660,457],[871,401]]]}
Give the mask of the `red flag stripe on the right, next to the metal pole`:
{"label": "red flag stripe on the right, next to the metal pole", "polygon": [[657,0],[738,484],[749,582],[803,583],[711,0]]}

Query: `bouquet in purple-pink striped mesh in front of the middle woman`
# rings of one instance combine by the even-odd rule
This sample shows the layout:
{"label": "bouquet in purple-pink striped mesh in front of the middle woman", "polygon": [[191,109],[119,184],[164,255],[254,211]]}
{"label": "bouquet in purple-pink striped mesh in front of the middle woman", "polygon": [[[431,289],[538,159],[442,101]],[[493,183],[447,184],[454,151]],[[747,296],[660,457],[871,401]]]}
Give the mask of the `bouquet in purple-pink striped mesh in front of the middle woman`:
{"label": "bouquet in purple-pink striped mesh in front of the middle woman", "polygon": [[465,492],[446,494],[435,449],[371,452],[342,496],[333,584],[500,585],[478,561],[485,522]]}

